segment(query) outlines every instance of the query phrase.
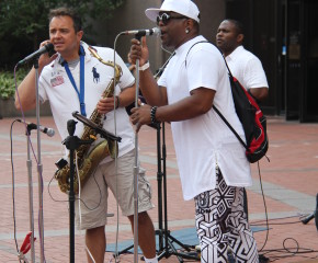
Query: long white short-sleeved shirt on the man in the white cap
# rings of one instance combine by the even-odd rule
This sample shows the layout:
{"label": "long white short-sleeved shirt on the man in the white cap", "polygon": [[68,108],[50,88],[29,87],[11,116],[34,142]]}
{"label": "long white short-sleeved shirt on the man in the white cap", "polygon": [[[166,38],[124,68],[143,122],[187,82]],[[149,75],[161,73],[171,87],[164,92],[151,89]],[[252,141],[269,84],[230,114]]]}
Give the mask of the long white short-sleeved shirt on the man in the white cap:
{"label": "long white short-sleeved shirt on the man in the white cap", "polygon": [[[214,105],[245,140],[224,58],[209,43],[196,44],[191,48],[201,41],[206,39],[197,36],[175,50],[158,84],[167,88],[169,104],[190,96],[190,92],[200,87],[215,90]],[[228,185],[251,185],[245,148],[213,108],[195,118],[171,123],[171,130],[184,199],[215,188],[216,164]]]}

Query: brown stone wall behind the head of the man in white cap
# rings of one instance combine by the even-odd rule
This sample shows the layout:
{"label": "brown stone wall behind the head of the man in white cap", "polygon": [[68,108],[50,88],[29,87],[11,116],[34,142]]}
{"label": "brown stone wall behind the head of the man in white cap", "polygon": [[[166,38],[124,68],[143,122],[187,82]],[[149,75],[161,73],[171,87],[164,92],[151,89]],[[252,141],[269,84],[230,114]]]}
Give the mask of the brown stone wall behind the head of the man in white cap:
{"label": "brown stone wall behind the head of the man in white cap", "polygon": [[[178,0],[177,0],[178,1]],[[161,0],[126,0],[111,20],[96,21],[96,35],[92,38],[100,46],[114,47],[115,37],[123,31],[137,28],[152,28],[156,24],[149,21],[145,14],[147,8],[159,8]],[[225,0],[196,0],[201,11],[201,33],[212,42],[219,23],[225,19]],[[133,36],[121,36],[116,42],[116,52],[126,61]],[[152,72],[159,69],[168,59],[169,54],[161,49],[160,37],[147,37],[150,50],[150,65]]]}

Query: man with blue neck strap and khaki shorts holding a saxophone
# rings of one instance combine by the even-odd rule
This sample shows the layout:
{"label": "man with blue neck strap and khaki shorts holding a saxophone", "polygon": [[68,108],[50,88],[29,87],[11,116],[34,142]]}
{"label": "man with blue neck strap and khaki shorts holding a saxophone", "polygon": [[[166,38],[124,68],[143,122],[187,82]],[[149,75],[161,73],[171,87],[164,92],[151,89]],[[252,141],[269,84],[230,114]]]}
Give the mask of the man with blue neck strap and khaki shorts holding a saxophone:
{"label": "man with blue neck strap and khaki shorts holding a saxophone", "polygon": [[[122,58],[116,56],[116,64],[121,66],[123,75],[115,87],[114,96],[101,99],[113,78],[114,69],[92,56],[89,46],[81,42],[82,36],[81,20],[72,10],[60,8],[50,11],[49,41],[43,42],[41,47],[52,43],[56,54],[52,57],[48,54],[39,57],[38,93],[41,102],[49,101],[61,139],[69,135],[67,121],[72,118],[72,112],[78,111],[89,117],[95,108],[101,114],[105,114],[103,128],[114,134],[113,110],[116,108],[116,134],[122,138],[118,144],[117,162],[111,157],[100,162],[94,174],[81,190],[80,199],[84,204],[81,206],[81,214],[76,211],[78,227],[86,229],[88,262],[102,263],[106,247],[109,188],[117,199],[123,215],[128,217],[132,226],[134,225],[135,134],[125,106],[135,100],[135,79]],[[113,60],[113,49],[93,48],[104,61]],[[15,106],[26,111],[35,105],[35,69],[33,68],[18,88]],[[75,135],[80,137],[82,130],[83,125],[78,123]],[[146,263],[156,263],[158,261],[155,229],[147,214],[147,210],[154,207],[150,201],[150,184],[141,169],[138,179],[138,243]],[[78,205],[76,207],[78,208]],[[81,217],[80,225],[79,217]]]}

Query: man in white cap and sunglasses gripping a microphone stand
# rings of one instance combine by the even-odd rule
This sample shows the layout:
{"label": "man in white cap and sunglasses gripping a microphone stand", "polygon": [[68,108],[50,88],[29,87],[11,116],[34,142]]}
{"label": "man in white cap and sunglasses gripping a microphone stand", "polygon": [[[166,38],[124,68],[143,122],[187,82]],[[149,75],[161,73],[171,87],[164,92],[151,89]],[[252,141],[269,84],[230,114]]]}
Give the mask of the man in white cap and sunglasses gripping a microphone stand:
{"label": "man in white cap and sunglasses gripping a microphone stand", "polygon": [[[213,110],[215,105],[245,140],[229,79],[219,50],[200,35],[200,11],[191,0],[164,0],[146,15],[161,30],[162,46],[173,49],[158,83],[149,69],[146,38],[132,41],[139,59],[146,105],[133,108],[138,132],[144,124],[170,122],[184,199],[194,198],[202,262],[257,263],[255,240],[243,210],[243,187],[251,185],[245,148]],[[140,45],[141,44],[141,45]]]}

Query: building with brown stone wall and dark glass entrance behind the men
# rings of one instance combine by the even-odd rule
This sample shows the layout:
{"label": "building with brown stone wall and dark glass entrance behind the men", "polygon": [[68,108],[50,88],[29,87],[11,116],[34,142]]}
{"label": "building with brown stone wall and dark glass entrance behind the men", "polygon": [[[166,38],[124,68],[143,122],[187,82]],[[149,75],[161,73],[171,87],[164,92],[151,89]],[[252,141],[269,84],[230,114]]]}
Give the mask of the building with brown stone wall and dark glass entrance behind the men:
{"label": "building with brown stone wall and dark glass entrance behind the men", "polygon": [[[263,64],[270,84],[262,108],[287,121],[318,122],[318,1],[317,0],[194,0],[201,10],[201,33],[215,43],[219,23],[228,18],[243,23],[245,47]],[[127,30],[152,28],[145,15],[162,0],[126,0],[110,21],[99,21],[96,43],[116,48],[125,59],[133,36]],[[148,37],[151,69],[169,57],[159,37]]]}

